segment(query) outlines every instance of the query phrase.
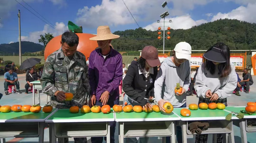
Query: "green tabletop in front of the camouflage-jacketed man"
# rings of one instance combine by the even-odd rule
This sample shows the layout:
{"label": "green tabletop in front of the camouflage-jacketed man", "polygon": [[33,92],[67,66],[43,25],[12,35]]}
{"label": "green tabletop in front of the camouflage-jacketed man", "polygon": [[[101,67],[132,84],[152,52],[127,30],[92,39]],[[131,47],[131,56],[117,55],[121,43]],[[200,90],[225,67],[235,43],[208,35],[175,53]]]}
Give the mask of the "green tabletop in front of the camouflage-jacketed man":
{"label": "green tabletop in front of the camouflage-jacketed man", "polygon": [[[112,111],[112,109],[111,109]],[[100,113],[70,113],[69,109],[58,109],[52,116],[45,120],[47,123],[60,123],[60,122],[105,122],[115,121],[114,113],[109,114]]]}

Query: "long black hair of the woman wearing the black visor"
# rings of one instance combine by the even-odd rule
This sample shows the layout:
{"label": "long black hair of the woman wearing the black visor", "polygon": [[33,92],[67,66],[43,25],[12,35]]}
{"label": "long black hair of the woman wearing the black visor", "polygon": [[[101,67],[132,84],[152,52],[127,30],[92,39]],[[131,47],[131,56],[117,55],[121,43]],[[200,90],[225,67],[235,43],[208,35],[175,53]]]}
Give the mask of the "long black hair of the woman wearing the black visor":
{"label": "long black hair of the woman wearing the black visor", "polygon": [[[230,66],[230,50],[229,47],[222,43],[218,42],[211,46],[211,48],[216,47],[221,49],[221,54],[225,57],[226,62],[225,63],[220,63],[218,65],[219,72],[218,74],[220,77],[227,77],[231,73],[231,66]],[[211,48],[209,48],[206,52],[210,51]],[[204,68],[208,71],[210,71],[211,74],[215,73],[215,65],[212,61],[207,60],[203,57],[203,62],[204,62]]]}

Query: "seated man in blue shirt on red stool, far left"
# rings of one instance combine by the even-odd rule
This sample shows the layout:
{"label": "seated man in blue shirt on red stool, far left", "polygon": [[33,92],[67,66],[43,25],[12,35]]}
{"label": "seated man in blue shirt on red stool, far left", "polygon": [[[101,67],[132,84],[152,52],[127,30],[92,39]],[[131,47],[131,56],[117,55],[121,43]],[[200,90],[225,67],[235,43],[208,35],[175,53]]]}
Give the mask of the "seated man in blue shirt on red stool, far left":
{"label": "seated man in blue shirt on red stool, far left", "polygon": [[12,69],[9,69],[8,72],[5,73],[4,78],[5,78],[5,83],[4,83],[5,95],[8,95],[8,86],[9,85],[15,85],[16,92],[21,93],[20,92],[20,83],[18,82],[18,75],[15,72],[13,72]]}

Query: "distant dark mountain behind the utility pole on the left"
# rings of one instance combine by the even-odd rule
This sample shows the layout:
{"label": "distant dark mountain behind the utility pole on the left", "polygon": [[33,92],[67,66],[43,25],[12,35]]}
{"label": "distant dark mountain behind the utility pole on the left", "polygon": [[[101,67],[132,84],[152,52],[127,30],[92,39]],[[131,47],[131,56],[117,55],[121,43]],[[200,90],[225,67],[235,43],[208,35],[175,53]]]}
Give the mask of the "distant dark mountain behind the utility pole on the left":
{"label": "distant dark mountain behind the utility pole on the left", "polygon": [[[21,41],[22,54],[26,52],[42,51],[43,48],[43,45],[36,44],[34,42]],[[19,42],[0,44],[0,55],[13,54],[13,52],[14,54],[19,54]]]}

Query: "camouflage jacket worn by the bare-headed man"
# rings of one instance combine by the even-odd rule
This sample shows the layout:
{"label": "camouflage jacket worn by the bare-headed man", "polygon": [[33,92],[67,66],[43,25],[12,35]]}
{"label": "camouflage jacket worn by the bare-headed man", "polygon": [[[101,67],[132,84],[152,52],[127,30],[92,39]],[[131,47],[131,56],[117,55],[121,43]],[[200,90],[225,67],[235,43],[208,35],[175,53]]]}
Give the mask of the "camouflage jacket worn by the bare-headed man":
{"label": "camouflage jacket worn by the bare-headed man", "polygon": [[[50,104],[56,108],[70,108],[87,104],[87,97],[90,92],[88,66],[85,56],[76,51],[69,60],[64,55],[62,48],[50,54],[43,69],[40,79],[42,92],[52,96]],[[54,93],[56,91],[73,93],[71,101],[58,101]]]}

